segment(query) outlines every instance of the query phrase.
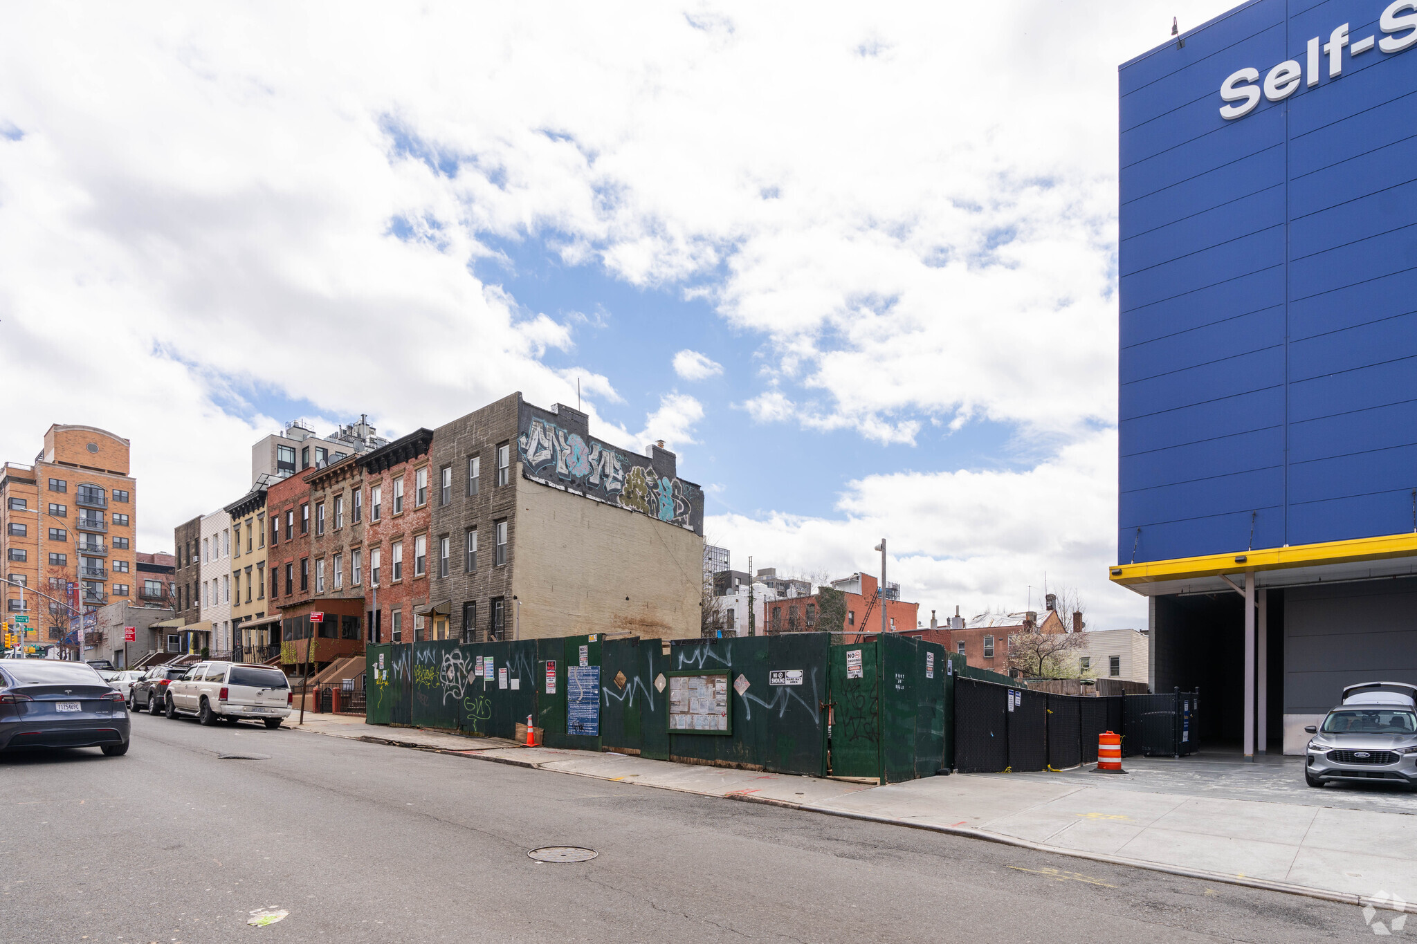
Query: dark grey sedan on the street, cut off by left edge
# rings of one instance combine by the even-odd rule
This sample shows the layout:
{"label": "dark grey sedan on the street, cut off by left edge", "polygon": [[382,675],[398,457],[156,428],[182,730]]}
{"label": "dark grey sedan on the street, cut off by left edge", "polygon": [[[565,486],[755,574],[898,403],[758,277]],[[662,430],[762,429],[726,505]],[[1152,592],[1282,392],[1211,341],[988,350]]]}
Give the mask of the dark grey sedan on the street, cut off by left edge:
{"label": "dark grey sedan on the street, cut off by left edge", "polygon": [[0,750],[102,747],[128,753],[123,693],[84,662],[0,660]]}

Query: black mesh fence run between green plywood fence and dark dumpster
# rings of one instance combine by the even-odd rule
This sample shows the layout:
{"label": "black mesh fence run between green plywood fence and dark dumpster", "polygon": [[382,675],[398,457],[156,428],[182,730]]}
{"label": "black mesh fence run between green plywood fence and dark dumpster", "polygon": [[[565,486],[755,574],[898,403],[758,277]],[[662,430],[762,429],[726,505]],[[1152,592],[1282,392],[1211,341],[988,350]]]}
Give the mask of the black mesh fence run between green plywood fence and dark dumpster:
{"label": "black mesh fence run between green plywood fence and dark dumpster", "polygon": [[1122,733],[1122,699],[1049,695],[958,675],[955,769],[1064,770],[1095,763],[1097,736],[1105,730]]}

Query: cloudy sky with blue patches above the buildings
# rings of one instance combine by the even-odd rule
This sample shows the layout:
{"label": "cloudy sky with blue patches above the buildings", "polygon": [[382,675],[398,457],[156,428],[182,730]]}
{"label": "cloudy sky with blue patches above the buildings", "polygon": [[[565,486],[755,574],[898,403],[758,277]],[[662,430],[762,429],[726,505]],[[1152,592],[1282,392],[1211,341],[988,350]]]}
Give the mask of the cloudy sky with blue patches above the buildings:
{"label": "cloudy sky with blue patches above the buildings", "polygon": [[170,549],[285,420],[580,381],[738,569],[884,535],[927,620],[1047,575],[1144,626],[1105,573],[1117,65],[1229,6],[4,3],[0,449],[130,437]]}

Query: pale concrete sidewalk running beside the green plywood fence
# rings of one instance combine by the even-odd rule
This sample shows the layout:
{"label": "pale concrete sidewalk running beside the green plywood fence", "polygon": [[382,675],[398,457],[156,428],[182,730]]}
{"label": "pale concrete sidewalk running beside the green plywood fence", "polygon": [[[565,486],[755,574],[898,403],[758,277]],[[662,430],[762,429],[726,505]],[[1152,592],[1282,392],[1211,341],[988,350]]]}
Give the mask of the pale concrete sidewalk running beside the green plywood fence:
{"label": "pale concrete sidewalk running beside the green plywood fence", "polygon": [[[1387,894],[1417,902],[1417,815],[1319,805],[1329,790],[1302,794],[1305,802],[1197,797],[1148,788],[1145,780],[1114,784],[1085,770],[1066,776],[955,774],[876,787],[523,747],[410,727],[370,727],[357,718],[329,715],[307,715],[303,730],[954,832],[1338,900]],[[1333,800],[1348,797],[1335,793]]]}

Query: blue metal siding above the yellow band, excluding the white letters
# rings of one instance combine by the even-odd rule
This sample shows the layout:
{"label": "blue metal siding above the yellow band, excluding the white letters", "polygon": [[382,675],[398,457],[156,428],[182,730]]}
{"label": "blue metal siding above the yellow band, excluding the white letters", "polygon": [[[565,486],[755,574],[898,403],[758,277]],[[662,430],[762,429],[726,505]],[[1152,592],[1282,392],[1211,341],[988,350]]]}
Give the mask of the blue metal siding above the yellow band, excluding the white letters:
{"label": "blue metal siding above the yellow band, excluding the white letters", "polygon": [[1219,116],[1384,6],[1260,0],[1119,71],[1119,560],[1417,526],[1417,48]]}

